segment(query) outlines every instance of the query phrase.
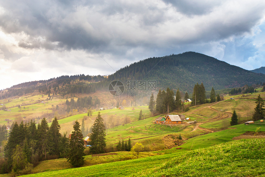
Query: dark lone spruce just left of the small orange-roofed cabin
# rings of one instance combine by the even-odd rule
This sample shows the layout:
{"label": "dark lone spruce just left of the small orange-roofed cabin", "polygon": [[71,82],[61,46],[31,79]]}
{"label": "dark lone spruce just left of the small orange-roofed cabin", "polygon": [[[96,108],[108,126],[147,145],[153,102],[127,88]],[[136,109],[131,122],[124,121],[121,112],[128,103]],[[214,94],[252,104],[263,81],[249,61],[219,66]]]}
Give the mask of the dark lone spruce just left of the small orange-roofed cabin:
{"label": "dark lone spruce just left of the small orange-roofed cabin", "polygon": [[83,135],[80,130],[80,124],[76,120],[74,124],[74,131],[71,134],[71,138],[69,140],[69,154],[67,162],[70,162],[72,166],[78,167],[84,164],[84,141]]}

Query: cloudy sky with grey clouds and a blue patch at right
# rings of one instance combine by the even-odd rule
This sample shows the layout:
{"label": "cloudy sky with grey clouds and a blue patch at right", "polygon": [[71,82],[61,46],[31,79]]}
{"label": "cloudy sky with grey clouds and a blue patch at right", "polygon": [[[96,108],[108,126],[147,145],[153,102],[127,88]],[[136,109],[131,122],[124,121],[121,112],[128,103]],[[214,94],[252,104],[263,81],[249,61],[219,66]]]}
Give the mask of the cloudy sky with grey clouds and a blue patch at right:
{"label": "cloudy sky with grey clouds and a blue patch at right", "polygon": [[0,0],[0,89],[203,53],[265,66],[264,0]]}

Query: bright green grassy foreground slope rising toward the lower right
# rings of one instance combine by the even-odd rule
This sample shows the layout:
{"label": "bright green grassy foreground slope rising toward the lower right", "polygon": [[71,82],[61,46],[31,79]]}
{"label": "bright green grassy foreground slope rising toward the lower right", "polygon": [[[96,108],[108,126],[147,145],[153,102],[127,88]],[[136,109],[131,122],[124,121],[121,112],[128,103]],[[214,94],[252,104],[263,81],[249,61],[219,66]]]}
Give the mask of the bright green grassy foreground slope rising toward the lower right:
{"label": "bright green grassy foreground slope rising toward the lower right", "polygon": [[264,139],[25,176],[265,176]]}

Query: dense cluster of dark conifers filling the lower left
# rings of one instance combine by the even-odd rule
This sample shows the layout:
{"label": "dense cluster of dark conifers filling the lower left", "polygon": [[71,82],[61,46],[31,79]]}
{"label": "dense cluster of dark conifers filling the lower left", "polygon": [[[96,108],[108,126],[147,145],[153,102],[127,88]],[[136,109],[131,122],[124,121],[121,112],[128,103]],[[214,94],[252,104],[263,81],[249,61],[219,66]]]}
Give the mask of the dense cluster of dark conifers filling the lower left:
{"label": "dense cluster of dark conifers filling the lower left", "polygon": [[[10,135],[4,147],[4,156],[7,159],[1,166],[1,173],[12,172],[19,174],[27,169],[30,171],[40,160],[49,158],[66,157],[69,151],[66,133],[59,133],[60,125],[56,117],[51,127],[47,120],[42,119],[36,126],[35,121],[23,121],[18,125],[15,122],[10,130]],[[17,154],[20,154],[17,157]],[[18,161],[14,160],[18,158]],[[27,173],[27,172],[25,172]]]}

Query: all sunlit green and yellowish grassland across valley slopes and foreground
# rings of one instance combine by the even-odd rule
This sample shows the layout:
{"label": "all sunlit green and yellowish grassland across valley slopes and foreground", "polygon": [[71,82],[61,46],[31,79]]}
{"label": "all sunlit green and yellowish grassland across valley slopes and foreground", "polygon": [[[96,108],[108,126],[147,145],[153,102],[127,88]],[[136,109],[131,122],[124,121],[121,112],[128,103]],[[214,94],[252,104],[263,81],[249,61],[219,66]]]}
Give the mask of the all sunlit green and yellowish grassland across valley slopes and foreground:
{"label": "all sunlit green and yellowish grassland across valley slopes and foreground", "polygon": [[[139,142],[145,147],[146,152],[142,152],[139,159],[135,159],[130,152],[110,151],[99,156],[85,156],[85,163],[80,168],[72,168],[65,158],[46,160],[34,167],[35,174],[26,176],[76,176],[77,172],[79,176],[240,176],[243,175],[241,171],[247,176],[264,176],[264,152],[261,151],[265,148],[264,135],[255,136],[254,132],[257,129],[265,132],[265,123],[256,121],[254,124],[242,124],[252,119],[250,115],[258,94],[265,97],[264,93],[253,93],[236,95],[230,100],[227,95],[220,102],[190,107],[189,111],[178,114],[184,114],[190,121],[196,120],[197,123],[172,127],[153,124],[156,118],[165,115],[152,116],[148,106],[102,110],[100,114],[105,122],[111,119],[120,123],[116,126],[114,123],[106,124],[106,148],[114,150],[119,140],[127,141],[130,138],[132,145]],[[5,119],[11,115],[35,116],[45,110],[52,111],[54,105],[65,103],[65,99],[59,98],[45,104],[35,103],[34,100],[42,101],[39,98],[41,95],[10,100],[6,107],[11,111],[0,111],[0,123],[6,123]],[[23,106],[18,108],[21,104],[28,104],[25,106],[26,111],[22,111]],[[138,120],[140,110],[144,120]],[[234,110],[238,113],[240,124],[230,126]],[[98,111],[94,111],[92,116],[77,113],[59,119],[60,132],[71,133],[75,120],[82,122],[84,119],[86,127],[90,128],[97,114]],[[241,156],[242,159],[238,158]]]}

